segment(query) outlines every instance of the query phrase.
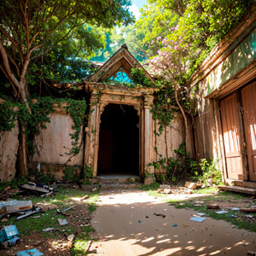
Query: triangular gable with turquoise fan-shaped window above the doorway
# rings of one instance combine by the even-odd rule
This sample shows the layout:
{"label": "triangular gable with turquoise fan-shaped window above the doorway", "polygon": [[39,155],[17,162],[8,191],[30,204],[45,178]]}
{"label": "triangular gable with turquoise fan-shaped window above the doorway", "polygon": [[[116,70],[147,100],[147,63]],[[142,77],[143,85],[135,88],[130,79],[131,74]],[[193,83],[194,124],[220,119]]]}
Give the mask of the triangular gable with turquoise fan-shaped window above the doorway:
{"label": "triangular gable with turquoise fan-shaped window above the doorway", "polygon": [[[88,81],[102,83],[107,79],[113,81],[131,82],[131,68],[142,68],[145,76],[154,83],[154,79],[143,68],[143,66],[131,55],[126,44],[106,61],[102,67],[100,67],[96,73],[90,76]],[[123,80],[121,80],[123,79]]]}

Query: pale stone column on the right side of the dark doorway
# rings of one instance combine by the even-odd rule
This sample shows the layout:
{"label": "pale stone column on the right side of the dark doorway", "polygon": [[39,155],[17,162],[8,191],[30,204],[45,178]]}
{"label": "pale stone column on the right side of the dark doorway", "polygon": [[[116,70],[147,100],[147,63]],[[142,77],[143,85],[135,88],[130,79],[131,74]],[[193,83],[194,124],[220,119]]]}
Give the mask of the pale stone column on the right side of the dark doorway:
{"label": "pale stone column on the right side of the dark doorway", "polygon": [[150,184],[154,182],[154,166],[150,166],[153,163],[154,156],[154,139],[153,139],[153,121],[152,113],[150,113],[150,106],[153,104],[154,96],[145,95],[144,98],[144,125],[143,125],[143,141],[144,141],[144,183]]}

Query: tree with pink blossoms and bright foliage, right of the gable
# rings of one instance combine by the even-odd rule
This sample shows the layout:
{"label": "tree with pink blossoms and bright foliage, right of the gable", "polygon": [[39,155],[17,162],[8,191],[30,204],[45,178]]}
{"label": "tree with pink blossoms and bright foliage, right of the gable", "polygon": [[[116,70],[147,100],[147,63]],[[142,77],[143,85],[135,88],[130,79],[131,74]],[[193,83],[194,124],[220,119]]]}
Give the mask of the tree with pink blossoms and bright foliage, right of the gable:
{"label": "tree with pink blossoms and bright foliage, right of the gable", "polygon": [[[148,29],[150,32],[148,38],[144,38],[144,42],[148,39],[152,40],[150,46],[153,50],[148,49],[148,52],[154,53],[154,56],[149,63],[156,76],[166,79],[166,82],[163,82],[166,90],[160,90],[164,95],[159,98],[165,99],[165,107],[168,107],[172,105],[172,96],[169,93],[173,91],[175,102],[183,114],[187,140],[189,122],[186,112],[188,113],[190,108],[189,97],[185,96],[185,100],[179,97],[182,92],[185,95],[188,93],[186,81],[211,49],[247,13],[253,0],[149,0],[149,3],[150,6],[143,9],[142,18],[137,21],[137,27],[142,33],[146,24],[151,28]],[[158,10],[153,22],[153,15],[150,15],[152,7]],[[174,19],[170,23],[171,26],[168,26],[169,20],[165,20],[165,16],[173,19],[176,17],[176,20]],[[167,32],[165,26],[154,26],[157,18],[160,17],[162,24],[168,28]],[[186,146],[188,146],[187,142]]]}

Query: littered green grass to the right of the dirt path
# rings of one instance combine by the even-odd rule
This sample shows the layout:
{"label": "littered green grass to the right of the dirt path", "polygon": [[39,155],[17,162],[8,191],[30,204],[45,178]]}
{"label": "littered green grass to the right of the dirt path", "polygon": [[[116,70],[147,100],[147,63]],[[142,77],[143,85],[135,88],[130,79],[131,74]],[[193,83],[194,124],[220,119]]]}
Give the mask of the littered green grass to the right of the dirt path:
{"label": "littered green grass to the right of the dirt path", "polygon": [[[212,196],[204,196],[200,197],[200,199],[191,199],[189,201],[168,201],[168,203],[174,207],[177,207],[178,209],[183,208],[192,208],[196,212],[204,212],[206,213],[206,217],[212,217],[214,219],[223,219],[224,221],[227,221],[233,225],[235,225],[238,229],[245,229],[250,230],[253,232],[256,232],[256,222],[253,223],[249,222],[247,219],[247,215],[252,215],[253,218],[256,218],[256,213],[248,214],[244,212],[238,212],[238,211],[231,211],[225,209],[227,213],[218,214],[216,212],[220,210],[210,210],[207,209],[207,202],[213,201],[213,202],[221,202],[221,201],[229,201],[229,202],[236,202],[236,200],[241,199],[248,199],[249,197],[247,195],[241,195],[236,194],[233,192],[219,192],[218,195],[212,195]],[[202,201],[203,203],[201,206],[195,206],[195,201]],[[249,200],[249,199],[248,199]],[[254,201],[249,201],[251,204],[255,204]],[[237,206],[238,207],[238,206]],[[235,216],[233,218],[232,216]]]}

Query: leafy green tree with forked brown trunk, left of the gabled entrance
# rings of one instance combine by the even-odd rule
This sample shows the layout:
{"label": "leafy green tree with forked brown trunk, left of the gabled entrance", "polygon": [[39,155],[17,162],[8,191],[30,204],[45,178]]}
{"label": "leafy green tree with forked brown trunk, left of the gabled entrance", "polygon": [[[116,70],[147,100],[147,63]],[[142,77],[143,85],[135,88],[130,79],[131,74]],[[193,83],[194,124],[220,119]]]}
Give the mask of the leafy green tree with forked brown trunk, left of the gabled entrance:
{"label": "leafy green tree with forked brown trunk, left of the gabled entrance", "polygon": [[[0,3],[0,70],[11,84],[20,102],[27,103],[29,96],[28,71],[32,60],[51,53],[54,59],[58,47],[69,42],[80,42],[79,49],[87,54],[90,44],[88,26],[112,27],[132,21],[128,6],[130,0],[9,0]],[[86,27],[86,25],[88,25]],[[87,29],[87,30],[86,30]],[[79,33],[82,31],[82,37]],[[74,37],[74,33],[76,37]],[[86,33],[87,32],[87,33]],[[86,39],[86,35],[88,36]],[[79,40],[75,40],[79,38]],[[67,43],[68,42],[68,43]],[[94,40],[96,42],[96,40]],[[53,45],[50,45],[53,44]],[[66,51],[69,49],[69,44]],[[52,52],[50,50],[53,49]],[[60,55],[62,53],[60,52]],[[44,68],[44,67],[42,67]],[[23,127],[24,129],[24,127]],[[22,132],[23,170],[26,174],[26,137]],[[21,168],[21,166],[20,166]]]}

